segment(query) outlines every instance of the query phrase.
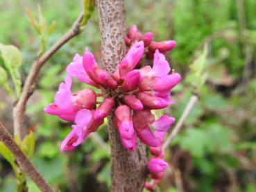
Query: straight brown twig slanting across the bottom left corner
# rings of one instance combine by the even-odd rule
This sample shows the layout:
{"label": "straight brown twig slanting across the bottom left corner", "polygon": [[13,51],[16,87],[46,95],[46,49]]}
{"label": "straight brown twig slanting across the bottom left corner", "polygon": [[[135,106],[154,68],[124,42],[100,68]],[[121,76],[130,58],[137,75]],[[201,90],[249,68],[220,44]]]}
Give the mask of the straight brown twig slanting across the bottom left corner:
{"label": "straight brown twig slanting across the bottom left corner", "polygon": [[22,168],[22,170],[31,177],[31,180],[35,182],[37,187],[41,191],[51,192],[51,186],[44,180],[42,175],[35,169],[35,166],[29,161],[28,157],[22,152],[17,143],[15,143],[12,136],[0,122],[0,140],[6,145],[6,147],[12,152],[12,155],[17,160],[17,163]]}

